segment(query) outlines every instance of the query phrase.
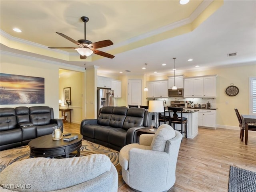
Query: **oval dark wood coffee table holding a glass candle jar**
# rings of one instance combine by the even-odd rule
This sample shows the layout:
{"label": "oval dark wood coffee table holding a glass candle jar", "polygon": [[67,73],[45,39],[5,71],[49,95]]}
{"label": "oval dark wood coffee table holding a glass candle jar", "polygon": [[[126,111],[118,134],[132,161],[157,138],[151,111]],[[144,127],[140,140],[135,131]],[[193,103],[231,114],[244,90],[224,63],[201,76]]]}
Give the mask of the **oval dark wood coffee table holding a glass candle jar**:
{"label": "oval dark wood coffee table holding a glass candle jar", "polygon": [[[71,135],[78,135],[78,139],[73,141],[52,140],[52,135],[44,135],[42,137],[37,137],[28,143],[30,147],[30,158],[31,157],[75,157],[80,156],[80,147],[82,146],[83,136],[77,133],[72,133]],[[72,154],[72,152],[76,154]]]}

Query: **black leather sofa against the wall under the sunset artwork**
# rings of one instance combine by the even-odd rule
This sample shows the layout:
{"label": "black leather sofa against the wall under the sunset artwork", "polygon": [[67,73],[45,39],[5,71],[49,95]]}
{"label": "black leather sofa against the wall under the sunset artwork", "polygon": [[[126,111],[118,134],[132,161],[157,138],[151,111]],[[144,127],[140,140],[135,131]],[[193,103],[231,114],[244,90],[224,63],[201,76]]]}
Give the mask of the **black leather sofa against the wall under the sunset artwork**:
{"label": "black leather sofa against the wall under the sunset artwork", "polygon": [[63,121],[54,119],[53,108],[47,106],[0,108],[0,151],[28,145],[42,135],[52,134]]}

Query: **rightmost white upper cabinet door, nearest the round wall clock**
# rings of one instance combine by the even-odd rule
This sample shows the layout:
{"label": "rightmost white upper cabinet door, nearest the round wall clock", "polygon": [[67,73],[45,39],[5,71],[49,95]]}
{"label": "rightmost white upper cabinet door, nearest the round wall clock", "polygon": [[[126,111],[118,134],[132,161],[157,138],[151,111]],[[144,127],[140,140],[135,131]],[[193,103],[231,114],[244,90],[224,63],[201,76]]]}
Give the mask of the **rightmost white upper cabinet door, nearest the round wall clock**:
{"label": "rightmost white upper cabinet door, nearest the round wall clock", "polygon": [[204,77],[204,97],[216,97],[216,75]]}

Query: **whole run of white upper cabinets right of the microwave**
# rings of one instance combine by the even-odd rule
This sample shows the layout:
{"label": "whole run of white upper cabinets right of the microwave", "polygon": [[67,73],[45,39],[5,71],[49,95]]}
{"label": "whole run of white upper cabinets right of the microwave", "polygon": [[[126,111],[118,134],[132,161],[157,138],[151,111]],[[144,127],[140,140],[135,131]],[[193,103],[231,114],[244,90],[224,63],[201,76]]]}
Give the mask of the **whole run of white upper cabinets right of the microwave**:
{"label": "whole run of white upper cabinets right of the microwave", "polygon": [[184,97],[215,98],[216,75],[185,78]]}

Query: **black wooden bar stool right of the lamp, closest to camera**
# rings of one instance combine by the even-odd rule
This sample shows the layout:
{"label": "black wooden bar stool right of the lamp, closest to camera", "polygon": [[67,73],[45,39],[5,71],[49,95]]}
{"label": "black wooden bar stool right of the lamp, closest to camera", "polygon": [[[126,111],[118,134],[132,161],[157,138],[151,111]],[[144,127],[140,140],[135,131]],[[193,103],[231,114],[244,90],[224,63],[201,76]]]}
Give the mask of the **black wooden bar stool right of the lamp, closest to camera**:
{"label": "black wooden bar stool right of the lamp, closest to camera", "polygon": [[[185,133],[187,138],[187,132],[188,132],[188,119],[182,117],[182,111],[183,108],[179,107],[168,107],[168,113],[169,113],[169,124],[173,124],[173,129],[175,129],[175,124],[180,124],[181,130],[175,129],[177,131],[180,131],[181,134]],[[173,112],[173,116],[171,116],[170,112]],[[177,112],[180,112],[180,117],[178,117]],[[185,124],[185,131],[183,131],[183,124]]]}

